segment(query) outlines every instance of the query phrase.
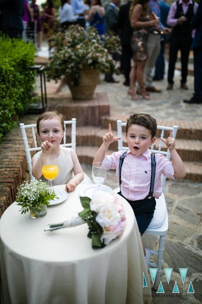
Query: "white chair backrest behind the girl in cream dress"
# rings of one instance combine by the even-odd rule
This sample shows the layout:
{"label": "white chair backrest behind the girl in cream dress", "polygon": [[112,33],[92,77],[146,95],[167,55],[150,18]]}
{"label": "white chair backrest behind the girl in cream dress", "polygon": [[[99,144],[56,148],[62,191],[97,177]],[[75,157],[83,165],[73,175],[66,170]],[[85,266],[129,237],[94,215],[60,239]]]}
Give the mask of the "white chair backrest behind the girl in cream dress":
{"label": "white chair backrest behind the girl in cream dress", "polygon": [[[66,125],[67,124],[72,125],[71,143],[66,143]],[[72,149],[76,152],[76,118],[72,118],[72,120],[65,120],[64,127],[65,127],[65,132],[64,132],[64,136],[63,136],[63,144],[61,144],[60,146],[72,147]],[[28,128],[32,130],[32,136],[34,139],[34,146],[35,146],[34,148],[29,147],[27,134],[26,134],[26,129],[28,129]],[[33,177],[33,175],[32,175],[32,157],[31,157],[30,152],[41,150],[41,147],[37,146],[35,128],[36,128],[36,124],[24,125],[24,123],[20,123],[20,129],[21,129],[21,133],[22,133],[22,139],[23,139],[23,143],[24,143],[25,154],[26,154],[26,158],[27,158],[27,164],[29,167],[29,174],[30,174],[31,180],[35,180],[35,177]]]}

